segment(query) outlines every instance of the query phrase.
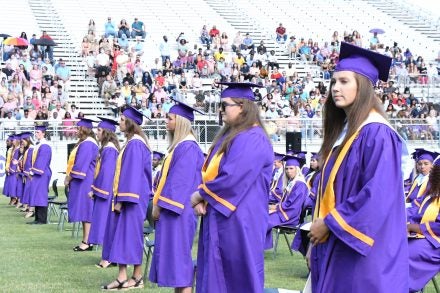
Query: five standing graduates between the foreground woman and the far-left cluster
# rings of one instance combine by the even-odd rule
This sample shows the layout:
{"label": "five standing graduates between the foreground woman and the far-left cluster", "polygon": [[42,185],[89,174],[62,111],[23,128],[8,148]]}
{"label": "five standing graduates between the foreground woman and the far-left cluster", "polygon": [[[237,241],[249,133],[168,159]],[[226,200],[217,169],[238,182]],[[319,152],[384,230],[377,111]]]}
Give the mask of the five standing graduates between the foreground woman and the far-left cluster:
{"label": "five standing graduates between the foreground woman and the far-left cluster", "polygon": [[[98,266],[119,266],[116,279],[103,290],[143,287],[143,224],[151,201],[152,282],[176,292],[191,291],[191,251],[197,216],[202,216],[197,292],[262,292],[273,148],[253,102],[253,85],[227,85],[221,95],[225,126],[206,159],[191,126],[195,110],[182,101],[168,113],[170,144],[161,167],[139,127],[142,113],[136,109],[128,107],[121,115],[119,129],[127,142],[120,149],[110,138],[116,121],[101,118],[100,147],[93,121],[78,122],[80,139],[69,156],[65,180],[69,221],[83,223],[83,240],[74,251],[99,244]],[[154,176],[152,166],[160,168]],[[129,264],[134,265],[131,278]]]}

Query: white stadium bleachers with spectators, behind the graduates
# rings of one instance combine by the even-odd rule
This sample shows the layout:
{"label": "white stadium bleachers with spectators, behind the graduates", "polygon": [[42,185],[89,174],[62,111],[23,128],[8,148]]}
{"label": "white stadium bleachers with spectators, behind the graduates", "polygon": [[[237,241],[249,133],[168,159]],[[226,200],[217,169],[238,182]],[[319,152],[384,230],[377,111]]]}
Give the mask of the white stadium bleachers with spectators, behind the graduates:
{"label": "white stadium bleachers with spectators, behind the graduates", "polygon": [[[221,89],[215,81],[251,81],[264,86],[257,95],[261,113],[275,124],[273,140],[281,141],[284,120],[304,120],[304,125],[307,119],[320,119],[339,44],[348,41],[393,57],[391,82],[377,90],[384,109],[398,120],[396,125],[423,126],[426,122],[424,137],[435,140],[440,98],[438,20],[424,15],[422,26],[417,19],[423,15],[415,17],[405,3],[394,1],[393,9],[386,3],[18,0],[1,10],[0,33],[19,36],[26,32],[30,40],[32,34],[39,37],[45,30],[58,46],[46,64],[49,56],[44,52],[41,60],[32,56],[32,46],[26,50],[3,47],[8,53],[2,54],[1,68],[6,73],[0,86],[2,119],[9,124],[37,117],[56,119],[70,127],[70,119],[79,113],[118,116],[126,104],[152,119],[163,119],[172,105],[169,97],[176,95],[211,113],[203,119],[214,119]],[[5,17],[18,14],[23,17]],[[116,33],[122,19],[131,32],[138,18],[144,24],[145,38],[128,35],[120,40],[108,33],[106,38],[108,18]],[[94,25],[89,26],[90,20]],[[286,41],[277,40],[280,24],[286,30]],[[203,26],[207,35],[215,36],[202,38]],[[211,31],[213,26],[218,35]],[[371,29],[384,33],[374,38]],[[223,33],[227,38],[221,37]],[[166,43],[163,36],[167,36]],[[42,72],[43,67],[47,72]],[[61,73],[69,72],[68,81],[57,82],[59,67]],[[319,138],[319,122],[312,124]],[[405,135],[417,139],[421,133],[408,130]]]}

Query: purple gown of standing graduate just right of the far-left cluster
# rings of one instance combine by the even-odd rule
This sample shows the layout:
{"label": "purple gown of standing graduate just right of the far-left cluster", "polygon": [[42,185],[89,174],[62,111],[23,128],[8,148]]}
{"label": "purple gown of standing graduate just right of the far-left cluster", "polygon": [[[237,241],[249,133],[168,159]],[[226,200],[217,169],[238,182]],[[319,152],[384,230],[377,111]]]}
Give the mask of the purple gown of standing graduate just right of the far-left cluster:
{"label": "purple gown of standing graduate just right of the far-left cluster", "polygon": [[77,146],[75,162],[70,172],[69,222],[91,222],[93,200],[89,197],[95,174],[98,145],[93,138],[87,138]]}

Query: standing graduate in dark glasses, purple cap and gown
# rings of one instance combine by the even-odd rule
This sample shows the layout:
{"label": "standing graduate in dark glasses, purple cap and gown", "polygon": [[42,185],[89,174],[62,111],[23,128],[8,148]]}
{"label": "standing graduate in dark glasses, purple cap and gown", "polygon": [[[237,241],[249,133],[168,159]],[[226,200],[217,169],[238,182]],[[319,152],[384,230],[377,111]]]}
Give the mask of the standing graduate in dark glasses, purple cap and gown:
{"label": "standing graduate in dark glasses, purple cap and gown", "polygon": [[225,126],[202,168],[191,197],[201,215],[197,256],[198,293],[264,290],[264,241],[273,148],[254,104],[250,83],[224,83]]}

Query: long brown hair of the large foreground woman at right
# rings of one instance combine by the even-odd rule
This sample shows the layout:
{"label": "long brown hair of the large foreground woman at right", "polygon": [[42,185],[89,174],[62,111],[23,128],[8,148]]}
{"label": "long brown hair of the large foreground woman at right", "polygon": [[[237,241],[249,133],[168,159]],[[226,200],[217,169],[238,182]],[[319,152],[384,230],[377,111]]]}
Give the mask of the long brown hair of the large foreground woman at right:
{"label": "long brown hair of the large foreground woman at right", "polygon": [[[376,97],[370,80],[357,73],[354,73],[354,76],[357,83],[357,93],[353,104],[350,106],[348,116],[342,108],[336,107],[331,91],[335,81],[332,80],[330,83],[330,90],[323,109],[324,139],[321,150],[319,151],[321,160],[325,161],[327,159],[345,123],[348,124],[348,129],[344,141],[341,143],[341,147],[347,143],[347,140],[367,119],[372,110],[375,110],[386,119],[382,104]],[[339,152],[339,150],[340,148],[338,147],[337,152]]]}

